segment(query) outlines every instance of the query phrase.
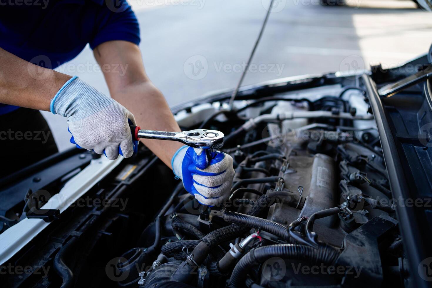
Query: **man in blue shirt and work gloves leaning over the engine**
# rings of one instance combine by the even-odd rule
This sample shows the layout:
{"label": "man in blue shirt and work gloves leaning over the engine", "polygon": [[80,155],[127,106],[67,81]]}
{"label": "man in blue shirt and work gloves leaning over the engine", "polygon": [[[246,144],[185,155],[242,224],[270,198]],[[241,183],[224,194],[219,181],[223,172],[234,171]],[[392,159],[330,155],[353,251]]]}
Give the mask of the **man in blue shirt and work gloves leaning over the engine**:
{"label": "man in blue shirt and work gloves leaning over the engine", "polygon": [[[126,158],[133,155],[130,123],[148,130],[180,131],[162,93],[146,76],[138,48],[138,22],[126,2],[116,1],[121,4],[117,6],[103,0],[49,1],[46,6],[36,5],[40,1],[25,3],[0,7],[3,165],[19,169],[57,152],[50,135],[39,142],[18,137],[18,132],[49,133],[37,110],[67,117],[71,142],[110,160],[119,153]],[[51,70],[76,57],[87,43],[112,98],[77,77]],[[124,75],[109,69],[116,66],[127,67]],[[229,155],[219,152],[208,159],[202,150],[179,142],[141,141],[173,169],[200,203],[216,205],[229,196],[234,176]]]}

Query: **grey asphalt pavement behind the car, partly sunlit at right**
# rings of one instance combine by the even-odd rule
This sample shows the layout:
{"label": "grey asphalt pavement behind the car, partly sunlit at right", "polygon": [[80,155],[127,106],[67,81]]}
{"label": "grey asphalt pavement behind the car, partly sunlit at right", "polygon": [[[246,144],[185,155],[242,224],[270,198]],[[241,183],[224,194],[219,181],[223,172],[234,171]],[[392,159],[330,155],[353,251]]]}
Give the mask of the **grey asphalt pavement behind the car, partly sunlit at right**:
{"label": "grey asphalt pavement behind the car, partly sunlit at right", "polygon": [[[131,0],[146,72],[168,104],[233,88],[270,0]],[[407,0],[275,0],[244,85],[286,76],[397,66],[432,43],[432,14]],[[56,70],[108,94],[89,47]],[[145,101],[145,99],[143,99]],[[66,119],[44,112],[60,150]],[[142,125],[142,124],[141,124]]]}

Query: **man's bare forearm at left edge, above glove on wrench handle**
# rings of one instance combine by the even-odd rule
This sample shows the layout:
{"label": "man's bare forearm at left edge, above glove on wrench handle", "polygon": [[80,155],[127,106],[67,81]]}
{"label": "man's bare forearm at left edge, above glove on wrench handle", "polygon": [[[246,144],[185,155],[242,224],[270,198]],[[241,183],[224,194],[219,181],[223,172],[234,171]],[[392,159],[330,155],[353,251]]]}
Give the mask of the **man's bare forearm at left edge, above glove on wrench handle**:
{"label": "man's bare forearm at left edge, above glove on wrench handle", "polygon": [[0,103],[50,111],[51,98],[71,76],[39,67],[0,48]]}

